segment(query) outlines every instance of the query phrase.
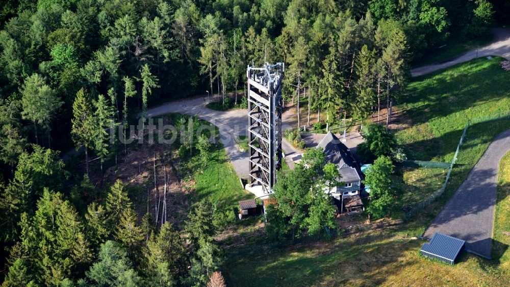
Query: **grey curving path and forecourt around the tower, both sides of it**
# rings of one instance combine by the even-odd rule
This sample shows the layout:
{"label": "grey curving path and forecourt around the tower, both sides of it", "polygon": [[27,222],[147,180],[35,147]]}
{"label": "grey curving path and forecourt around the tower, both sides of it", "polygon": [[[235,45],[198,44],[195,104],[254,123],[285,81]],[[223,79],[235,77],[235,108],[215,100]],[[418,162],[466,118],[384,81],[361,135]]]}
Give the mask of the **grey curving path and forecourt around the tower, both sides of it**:
{"label": "grey curving path and forecourt around the tower, both sides of it", "polygon": [[[175,101],[151,108],[147,111],[148,117],[155,117],[166,113],[182,113],[187,115],[197,115],[199,118],[208,121],[218,127],[220,131],[221,143],[225,147],[227,155],[230,157],[234,170],[239,177],[248,176],[248,153],[241,152],[237,148],[234,140],[236,135],[247,135],[246,127],[248,124],[248,115],[246,109],[236,109],[230,111],[215,111],[206,108],[207,97],[195,97],[182,101]],[[294,117],[288,115],[283,117],[283,128],[295,125]],[[285,139],[282,142],[282,148],[286,154],[286,161],[291,168],[294,167],[294,161],[301,158],[301,152],[296,150]]]}

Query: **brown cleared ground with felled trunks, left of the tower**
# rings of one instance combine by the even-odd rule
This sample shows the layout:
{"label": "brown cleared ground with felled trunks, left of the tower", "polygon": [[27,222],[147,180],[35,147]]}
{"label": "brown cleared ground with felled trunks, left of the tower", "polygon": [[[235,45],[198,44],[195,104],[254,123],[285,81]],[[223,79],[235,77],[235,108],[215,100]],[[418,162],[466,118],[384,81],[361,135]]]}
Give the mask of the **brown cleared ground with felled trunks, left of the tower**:
{"label": "brown cleared ground with felled trunks, left of the tower", "polygon": [[[147,136],[147,134],[145,134]],[[104,185],[122,180],[130,190],[135,211],[141,221],[146,212],[161,222],[166,190],[166,221],[181,225],[189,210],[188,194],[194,184],[181,181],[179,162],[170,145],[164,143],[133,142],[117,154],[117,165],[105,172]],[[155,176],[156,171],[156,176]],[[165,189],[166,182],[166,189]]]}

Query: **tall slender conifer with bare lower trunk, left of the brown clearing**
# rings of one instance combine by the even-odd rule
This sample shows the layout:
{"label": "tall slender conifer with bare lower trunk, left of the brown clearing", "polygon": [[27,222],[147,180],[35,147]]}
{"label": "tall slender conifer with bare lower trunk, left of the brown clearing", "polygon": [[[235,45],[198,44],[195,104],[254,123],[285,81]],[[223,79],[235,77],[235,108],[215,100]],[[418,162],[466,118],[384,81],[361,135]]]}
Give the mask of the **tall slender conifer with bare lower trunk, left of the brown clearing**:
{"label": "tall slender conifer with bare lower trunk, left of the brown clearing", "polygon": [[77,150],[85,148],[85,166],[87,175],[89,175],[89,149],[93,148],[93,138],[95,135],[94,117],[92,111],[92,102],[84,88],[76,94],[72,105],[72,140]]}

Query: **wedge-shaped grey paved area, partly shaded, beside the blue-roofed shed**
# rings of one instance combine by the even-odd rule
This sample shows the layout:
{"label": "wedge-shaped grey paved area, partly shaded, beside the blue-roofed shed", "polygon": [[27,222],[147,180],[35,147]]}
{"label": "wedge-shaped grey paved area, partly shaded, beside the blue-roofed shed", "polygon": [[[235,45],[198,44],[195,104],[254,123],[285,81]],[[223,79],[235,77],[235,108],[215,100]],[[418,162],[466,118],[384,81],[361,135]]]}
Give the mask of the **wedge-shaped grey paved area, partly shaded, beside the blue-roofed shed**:
{"label": "wedge-shaped grey paved area, partly shaded, beside the blue-roofed shed", "polygon": [[424,237],[441,232],[465,240],[466,249],[491,257],[499,162],[509,150],[510,130],[506,130],[489,145]]}

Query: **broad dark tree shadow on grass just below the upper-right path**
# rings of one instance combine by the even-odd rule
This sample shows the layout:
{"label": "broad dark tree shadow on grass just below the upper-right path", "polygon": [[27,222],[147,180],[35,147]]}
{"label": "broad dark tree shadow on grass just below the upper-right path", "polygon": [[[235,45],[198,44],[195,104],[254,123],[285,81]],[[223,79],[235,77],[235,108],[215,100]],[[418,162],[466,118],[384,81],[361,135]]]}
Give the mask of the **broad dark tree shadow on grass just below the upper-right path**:
{"label": "broad dark tree shadow on grass just below the upper-right path", "polygon": [[403,116],[417,125],[457,112],[470,113],[470,108],[481,104],[491,107],[489,103],[504,99],[510,89],[508,75],[498,61],[476,59],[416,78],[405,91]]}

